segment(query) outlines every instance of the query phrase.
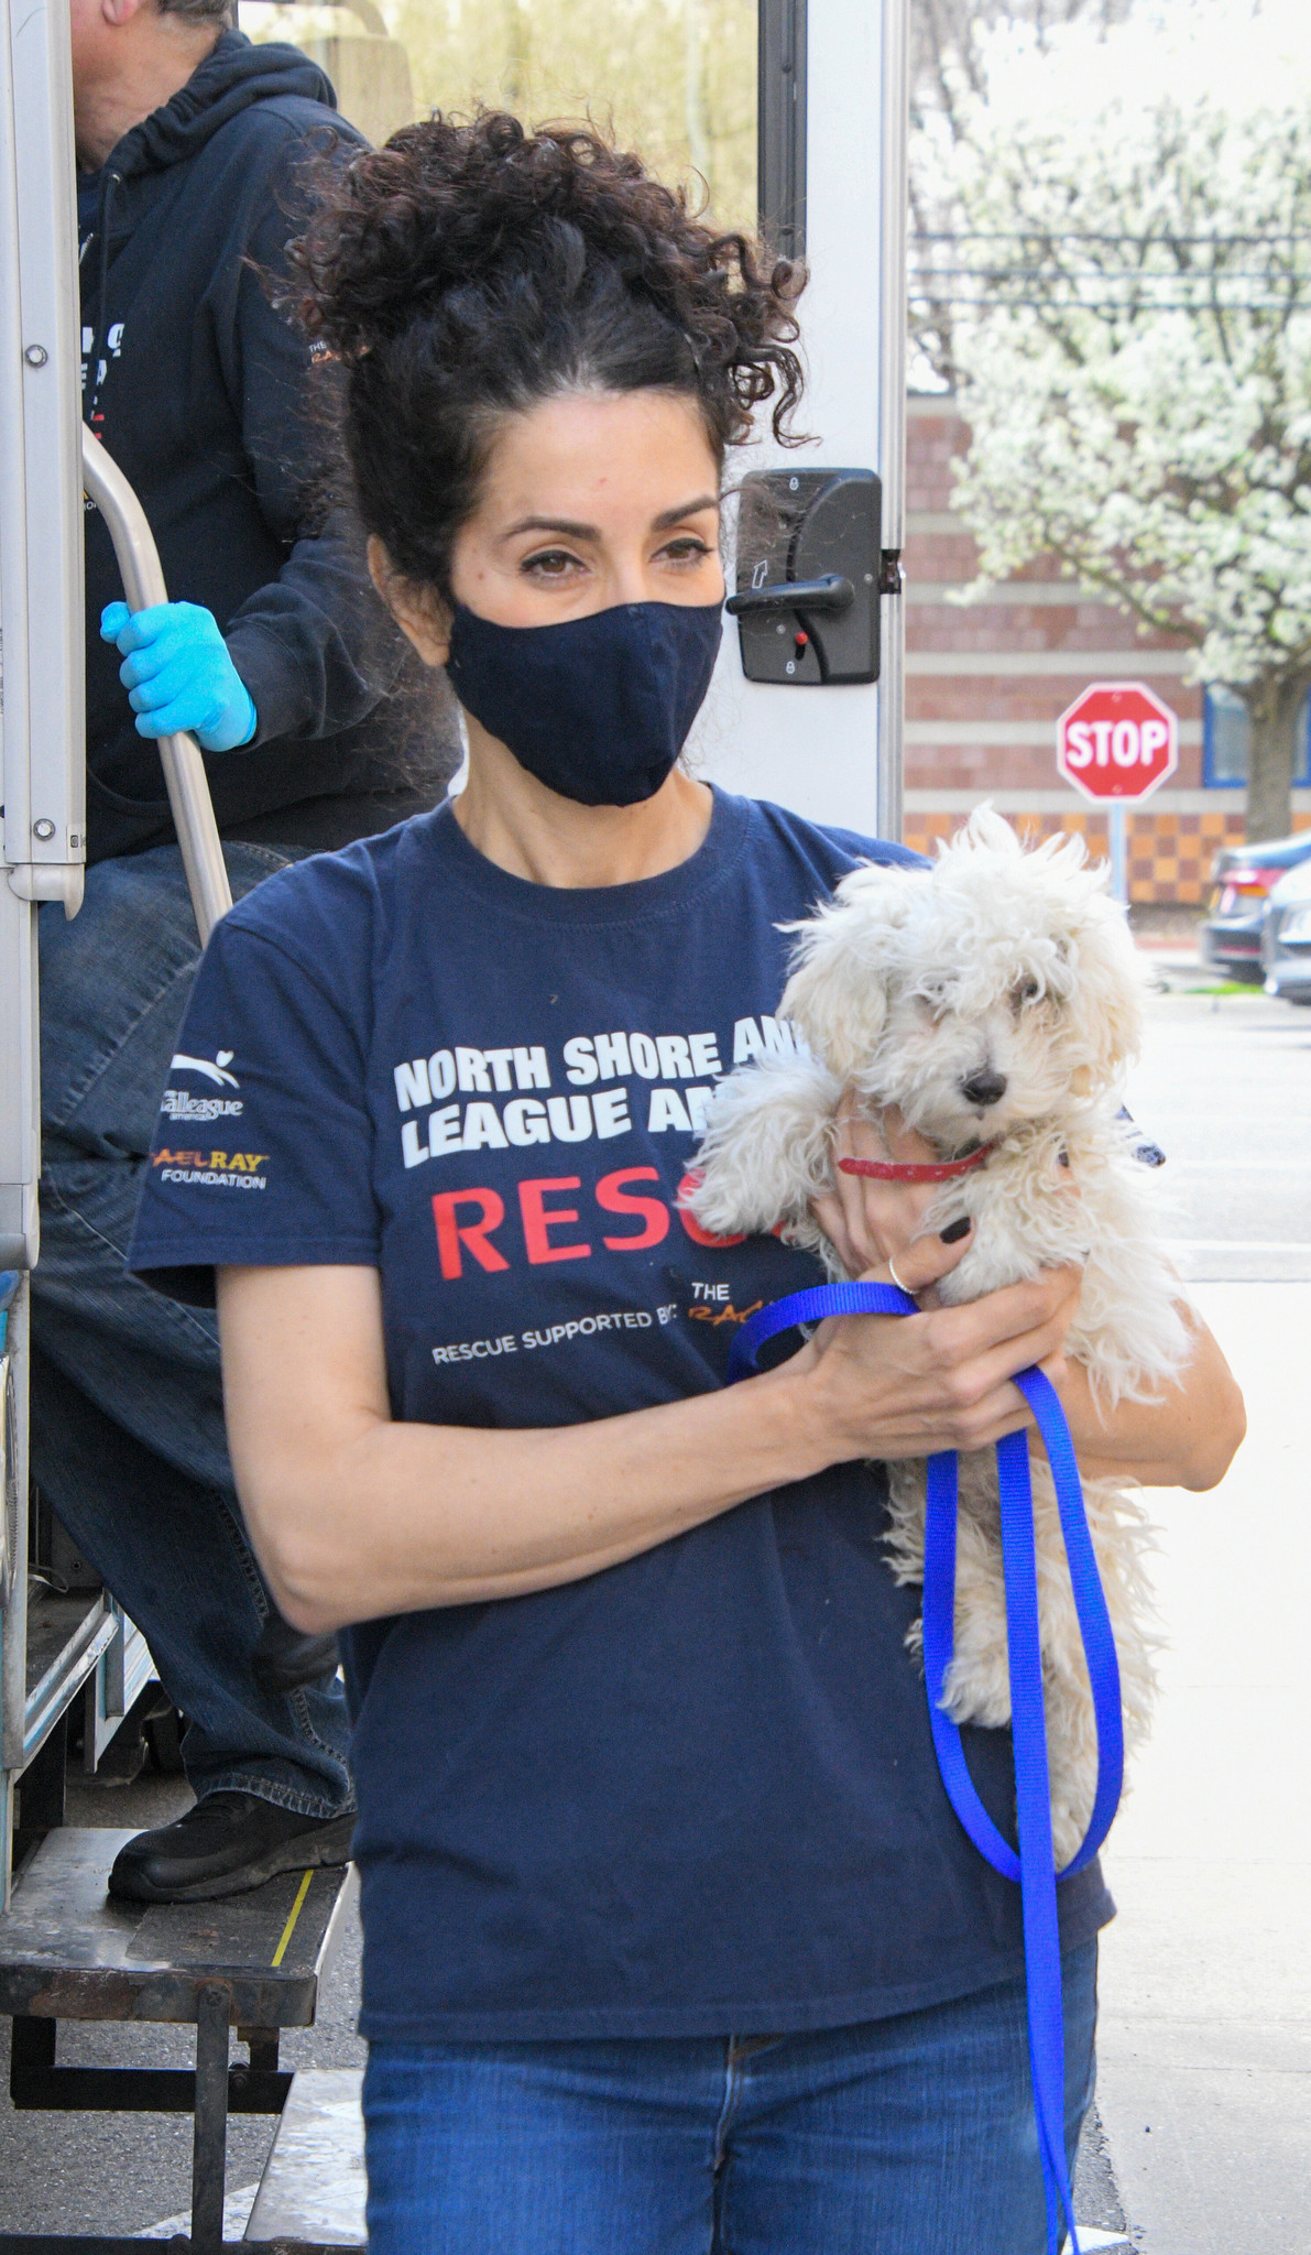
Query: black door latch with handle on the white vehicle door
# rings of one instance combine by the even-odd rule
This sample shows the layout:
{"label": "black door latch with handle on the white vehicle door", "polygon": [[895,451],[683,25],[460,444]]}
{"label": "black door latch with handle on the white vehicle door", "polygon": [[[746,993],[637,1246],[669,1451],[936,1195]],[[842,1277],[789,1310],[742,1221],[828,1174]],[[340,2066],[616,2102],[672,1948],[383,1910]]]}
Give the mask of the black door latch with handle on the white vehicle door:
{"label": "black door latch with handle on the white vehicle door", "polygon": [[879,681],[881,498],[872,469],[743,478],[728,611],[748,681]]}

